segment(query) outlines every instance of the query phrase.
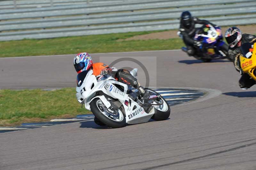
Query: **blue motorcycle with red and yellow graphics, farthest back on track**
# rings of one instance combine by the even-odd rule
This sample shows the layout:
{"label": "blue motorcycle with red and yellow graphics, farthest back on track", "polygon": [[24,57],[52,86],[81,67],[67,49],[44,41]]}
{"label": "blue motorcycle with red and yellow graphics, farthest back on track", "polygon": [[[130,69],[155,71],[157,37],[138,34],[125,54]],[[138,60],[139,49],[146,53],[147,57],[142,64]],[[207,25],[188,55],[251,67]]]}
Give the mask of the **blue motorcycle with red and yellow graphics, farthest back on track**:
{"label": "blue motorcycle with red and yellow graphics, farthest back on track", "polygon": [[[220,27],[211,24],[203,25],[196,30],[194,39],[202,42],[200,47],[194,46],[196,59],[210,62],[212,59],[228,58],[231,61],[231,58],[228,57],[228,44],[222,41],[223,36]],[[186,47],[182,47],[181,50],[187,52]]]}

